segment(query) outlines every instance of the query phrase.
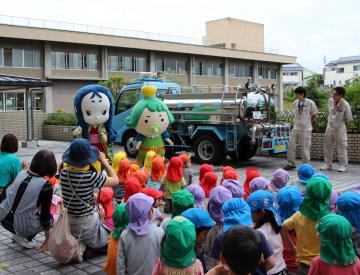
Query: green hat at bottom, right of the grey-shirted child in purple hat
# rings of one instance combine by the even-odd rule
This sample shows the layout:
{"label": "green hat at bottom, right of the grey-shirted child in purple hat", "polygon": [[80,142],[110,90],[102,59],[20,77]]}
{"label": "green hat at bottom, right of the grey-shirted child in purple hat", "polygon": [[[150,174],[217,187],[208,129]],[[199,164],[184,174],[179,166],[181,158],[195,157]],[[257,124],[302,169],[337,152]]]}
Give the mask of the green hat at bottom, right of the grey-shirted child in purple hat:
{"label": "green hat at bottom, right of the grey-shirted child in purple hat", "polygon": [[186,268],[196,261],[194,224],[182,216],[174,217],[166,227],[166,239],[161,251],[161,263]]}

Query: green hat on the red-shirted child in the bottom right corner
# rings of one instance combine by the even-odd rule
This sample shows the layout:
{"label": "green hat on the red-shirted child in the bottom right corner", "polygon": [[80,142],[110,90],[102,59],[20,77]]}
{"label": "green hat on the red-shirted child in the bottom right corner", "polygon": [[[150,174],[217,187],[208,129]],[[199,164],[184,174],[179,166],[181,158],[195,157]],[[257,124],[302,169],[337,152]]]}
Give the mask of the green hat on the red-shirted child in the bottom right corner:
{"label": "green hat on the red-shirted child in the bottom right corner", "polygon": [[351,266],[357,257],[351,240],[350,222],[336,214],[320,219],[317,230],[320,235],[320,258],[331,265]]}

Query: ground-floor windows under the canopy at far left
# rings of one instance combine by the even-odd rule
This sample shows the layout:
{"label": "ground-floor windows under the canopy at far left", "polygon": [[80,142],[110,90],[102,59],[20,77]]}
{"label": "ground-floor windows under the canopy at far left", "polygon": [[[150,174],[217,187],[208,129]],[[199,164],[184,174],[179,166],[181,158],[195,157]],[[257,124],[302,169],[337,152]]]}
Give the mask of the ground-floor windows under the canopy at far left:
{"label": "ground-floor windows under the canopy at far left", "polygon": [[[33,94],[34,110],[44,109],[44,94]],[[24,111],[25,93],[0,93],[0,111]]]}

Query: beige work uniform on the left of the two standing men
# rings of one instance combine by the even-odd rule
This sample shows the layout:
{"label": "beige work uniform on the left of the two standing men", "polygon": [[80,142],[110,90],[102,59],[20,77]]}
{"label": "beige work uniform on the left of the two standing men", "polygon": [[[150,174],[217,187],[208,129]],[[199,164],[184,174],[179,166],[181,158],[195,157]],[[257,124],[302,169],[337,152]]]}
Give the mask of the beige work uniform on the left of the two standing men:
{"label": "beige work uniform on the left of the two standing men", "polygon": [[287,150],[288,165],[296,166],[296,145],[301,146],[302,163],[310,162],[311,117],[316,115],[317,107],[311,99],[305,98],[304,105],[299,106],[299,100],[293,103],[294,128],[291,130],[290,141]]}

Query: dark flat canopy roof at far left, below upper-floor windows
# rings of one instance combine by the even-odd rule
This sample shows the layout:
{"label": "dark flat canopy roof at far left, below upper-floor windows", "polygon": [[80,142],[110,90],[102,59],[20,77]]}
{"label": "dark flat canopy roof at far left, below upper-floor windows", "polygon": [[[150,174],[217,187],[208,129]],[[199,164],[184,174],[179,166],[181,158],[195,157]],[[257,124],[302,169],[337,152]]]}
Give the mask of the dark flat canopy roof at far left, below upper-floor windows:
{"label": "dark flat canopy roof at far left, below upper-floor windows", "polygon": [[0,91],[52,86],[51,81],[39,78],[0,74]]}

